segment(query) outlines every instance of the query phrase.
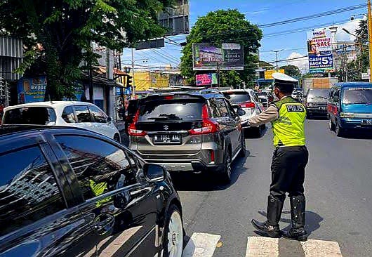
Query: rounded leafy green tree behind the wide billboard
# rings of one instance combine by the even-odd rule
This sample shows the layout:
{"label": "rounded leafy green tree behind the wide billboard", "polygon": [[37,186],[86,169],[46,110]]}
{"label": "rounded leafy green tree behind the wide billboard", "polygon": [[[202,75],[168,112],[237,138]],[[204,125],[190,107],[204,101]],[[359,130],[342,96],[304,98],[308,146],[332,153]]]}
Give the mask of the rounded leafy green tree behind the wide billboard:
{"label": "rounded leafy green tree behind the wide billboard", "polygon": [[235,43],[244,46],[244,70],[220,72],[221,86],[235,87],[243,81],[253,84],[258,57],[252,53],[257,53],[262,37],[261,30],[256,25],[251,25],[244,14],[237,10],[218,10],[199,17],[182,49],[181,74],[187,78],[188,83],[194,84],[197,72],[192,70],[193,43],[207,43],[218,47],[222,43]]}

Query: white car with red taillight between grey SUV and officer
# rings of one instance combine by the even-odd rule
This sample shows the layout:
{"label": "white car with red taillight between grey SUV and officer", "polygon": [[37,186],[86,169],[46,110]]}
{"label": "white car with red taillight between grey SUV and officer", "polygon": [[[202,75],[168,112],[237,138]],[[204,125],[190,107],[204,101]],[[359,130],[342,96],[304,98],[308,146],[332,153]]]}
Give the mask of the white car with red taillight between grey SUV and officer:
{"label": "white car with red taillight between grey SUV and officer", "polygon": [[[250,128],[247,122],[248,119],[263,111],[263,104],[252,89],[232,89],[221,91],[221,93],[230,101],[232,107],[239,106],[246,112],[246,114],[240,117],[241,126],[244,129]],[[265,124],[253,129],[255,129],[258,136],[261,136],[265,130]]]}

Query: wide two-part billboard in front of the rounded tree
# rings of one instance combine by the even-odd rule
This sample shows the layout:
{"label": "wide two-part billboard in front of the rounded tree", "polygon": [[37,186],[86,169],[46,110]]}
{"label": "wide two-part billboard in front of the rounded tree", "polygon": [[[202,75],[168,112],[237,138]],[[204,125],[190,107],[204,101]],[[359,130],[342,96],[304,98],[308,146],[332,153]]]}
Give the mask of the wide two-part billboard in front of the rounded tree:
{"label": "wide two-part billboard in front of the rounded tree", "polygon": [[192,44],[193,70],[244,70],[244,48],[240,44]]}

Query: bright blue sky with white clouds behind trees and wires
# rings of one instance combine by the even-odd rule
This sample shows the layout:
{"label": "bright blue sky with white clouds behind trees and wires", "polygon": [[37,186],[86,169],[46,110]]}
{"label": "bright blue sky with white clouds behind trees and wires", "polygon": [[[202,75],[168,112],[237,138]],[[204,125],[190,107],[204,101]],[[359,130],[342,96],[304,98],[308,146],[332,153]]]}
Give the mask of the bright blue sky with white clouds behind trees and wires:
{"label": "bright blue sky with white clouds behind trees and wires", "polygon": [[[190,0],[190,28],[199,16],[204,16],[206,13],[218,9],[237,8],[246,15],[246,20],[259,26],[359,4],[366,4],[366,0]],[[275,53],[271,51],[281,49],[283,51],[279,52],[279,60],[307,55],[306,32],[311,31],[312,28],[329,27],[333,23],[338,26],[338,41],[353,41],[354,37],[344,32],[342,28],[354,33],[359,26],[359,20],[364,18],[362,14],[366,12],[366,8],[359,8],[311,20],[263,28],[263,39],[260,41],[260,60],[273,62]],[[350,20],[352,16],[354,16],[354,20]],[[288,33],[293,30],[303,31]],[[177,42],[185,41],[185,35],[170,38]],[[166,40],[164,48],[135,51],[135,65],[138,65],[137,67],[141,65],[143,68],[147,66],[166,67],[168,65],[177,67],[182,55],[180,46],[169,43],[171,42]],[[124,49],[123,55],[124,64],[130,63],[131,50]],[[300,67],[300,70],[306,72],[307,58],[280,62],[279,66],[286,64],[296,65]]]}

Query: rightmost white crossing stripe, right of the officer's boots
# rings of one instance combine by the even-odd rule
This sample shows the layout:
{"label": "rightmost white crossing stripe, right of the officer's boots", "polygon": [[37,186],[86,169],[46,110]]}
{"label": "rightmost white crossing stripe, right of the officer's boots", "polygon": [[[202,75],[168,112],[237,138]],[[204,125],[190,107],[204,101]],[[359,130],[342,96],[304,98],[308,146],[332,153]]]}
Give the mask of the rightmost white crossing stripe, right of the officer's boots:
{"label": "rightmost white crossing stripe, right of the officer's boots", "polygon": [[342,257],[338,242],[309,239],[301,242],[306,257]]}

